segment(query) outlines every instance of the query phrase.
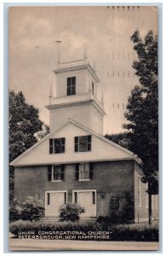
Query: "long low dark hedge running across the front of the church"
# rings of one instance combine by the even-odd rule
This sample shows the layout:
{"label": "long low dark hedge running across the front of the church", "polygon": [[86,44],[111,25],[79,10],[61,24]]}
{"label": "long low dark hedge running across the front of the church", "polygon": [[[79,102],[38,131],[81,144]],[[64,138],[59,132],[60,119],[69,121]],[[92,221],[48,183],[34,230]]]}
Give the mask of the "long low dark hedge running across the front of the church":
{"label": "long low dark hedge running across the front of the church", "polygon": [[[81,231],[83,234],[88,234],[89,231],[110,231],[110,236],[107,241],[158,241],[157,226],[139,226],[136,224],[94,224],[80,222],[57,222],[55,224],[43,224],[35,221],[15,221],[9,225],[9,231],[18,236],[19,232],[33,231],[38,235],[39,231]],[[92,240],[96,240],[92,238]],[[106,239],[103,239],[106,241]],[[102,241],[102,239],[98,240]]]}

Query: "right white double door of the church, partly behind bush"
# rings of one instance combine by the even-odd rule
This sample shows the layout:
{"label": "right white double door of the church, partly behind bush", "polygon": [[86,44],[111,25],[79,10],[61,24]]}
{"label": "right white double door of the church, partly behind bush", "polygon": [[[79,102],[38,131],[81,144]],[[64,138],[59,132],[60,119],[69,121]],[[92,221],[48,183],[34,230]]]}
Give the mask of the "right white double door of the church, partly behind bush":
{"label": "right white double door of the church, partly behind bush", "polygon": [[95,191],[75,191],[77,192],[77,204],[84,207],[85,212],[81,217],[96,217]]}

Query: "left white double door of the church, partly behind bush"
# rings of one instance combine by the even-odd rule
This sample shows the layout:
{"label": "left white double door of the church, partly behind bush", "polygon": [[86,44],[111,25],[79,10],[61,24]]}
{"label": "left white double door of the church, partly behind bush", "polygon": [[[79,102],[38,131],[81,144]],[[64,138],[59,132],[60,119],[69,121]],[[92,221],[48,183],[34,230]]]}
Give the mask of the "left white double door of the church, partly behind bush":
{"label": "left white double door of the church, partly behind bush", "polygon": [[60,206],[66,203],[66,191],[62,192],[46,192],[46,216],[60,216]]}

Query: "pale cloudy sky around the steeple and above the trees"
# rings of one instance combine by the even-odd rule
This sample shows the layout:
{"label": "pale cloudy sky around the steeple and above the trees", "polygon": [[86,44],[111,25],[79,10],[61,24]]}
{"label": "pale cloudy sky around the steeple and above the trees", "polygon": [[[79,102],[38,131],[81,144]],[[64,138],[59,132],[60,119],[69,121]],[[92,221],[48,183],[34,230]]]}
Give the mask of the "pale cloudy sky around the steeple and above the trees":
{"label": "pale cloudy sky around the steeple and above the trees", "polygon": [[[138,29],[144,37],[157,34],[157,8],[121,6],[13,7],[9,9],[9,89],[23,91],[26,101],[39,109],[49,125],[50,85],[54,94],[58,52],[60,61],[83,58],[95,62],[104,92],[104,134],[125,131],[126,104],[139,84],[132,68],[137,56],[131,35]],[[61,41],[60,44],[56,41]]]}

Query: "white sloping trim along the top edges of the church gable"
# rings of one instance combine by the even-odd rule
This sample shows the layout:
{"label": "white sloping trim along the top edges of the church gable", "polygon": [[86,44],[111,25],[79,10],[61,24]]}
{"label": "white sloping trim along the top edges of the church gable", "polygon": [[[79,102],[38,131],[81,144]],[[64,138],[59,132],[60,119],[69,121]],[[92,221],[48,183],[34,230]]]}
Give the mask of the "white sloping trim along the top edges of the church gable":
{"label": "white sloping trim along the top edges of the church gable", "polygon": [[[50,137],[52,137],[52,135],[54,135],[54,133],[57,133],[58,131],[60,131],[61,129],[63,129],[67,124],[72,124],[75,125],[76,127],[82,129],[83,131],[87,132],[90,135],[93,135],[94,137],[100,139],[101,142],[103,143],[107,143],[108,145],[111,145],[113,148],[117,148],[118,150],[120,150],[121,152],[123,152],[125,154],[125,159],[129,159],[129,160],[136,160],[136,156],[135,154],[133,154],[131,151],[129,151],[126,148],[123,148],[119,145],[117,145],[117,143],[113,143],[112,141],[106,139],[105,137],[101,136],[99,133],[90,130],[89,128],[87,128],[84,125],[81,125],[80,123],[78,123],[77,121],[73,120],[73,119],[68,119],[65,123],[63,123],[62,125],[60,125],[60,127],[58,129],[56,129],[55,131],[50,132],[46,137],[43,137],[43,139],[41,139],[39,142],[37,142],[36,144],[34,144],[31,148],[28,148],[23,154],[20,154],[20,156],[18,156],[16,159],[14,159],[10,165],[11,166],[20,166],[19,161],[22,160],[24,157],[26,157],[27,154],[30,154],[33,150],[35,151],[36,148],[44,143],[45,141],[49,140]],[[97,159],[96,159],[97,160]],[[109,160],[108,158],[103,159],[103,160]],[[113,160],[113,159],[110,159]],[[117,160],[117,159],[116,159]],[[137,160],[136,160],[137,161]],[[69,161],[68,161],[69,162]],[[76,161],[75,161],[76,162]],[[39,164],[39,163],[38,163]],[[48,164],[48,163],[45,163]],[[33,165],[33,164],[31,164]],[[24,166],[24,164],[21,164],[21,166]],[[26,166],[26,165],[25,165]]]}

